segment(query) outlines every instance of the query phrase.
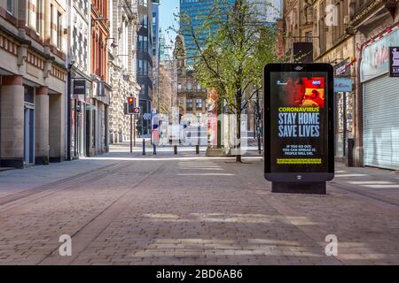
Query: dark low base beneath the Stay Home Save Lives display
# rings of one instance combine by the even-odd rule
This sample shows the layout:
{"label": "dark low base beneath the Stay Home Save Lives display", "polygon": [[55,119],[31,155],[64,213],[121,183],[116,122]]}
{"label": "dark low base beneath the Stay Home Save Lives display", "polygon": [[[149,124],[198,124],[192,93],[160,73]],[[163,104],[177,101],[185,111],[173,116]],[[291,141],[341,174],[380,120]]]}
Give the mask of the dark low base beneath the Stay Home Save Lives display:
{"label": "dark low base beneath the Stay Home Save Lives display", "polygon": [[287,194],[326,194],[326,182],[285,183],[272,182],[271,192]]}

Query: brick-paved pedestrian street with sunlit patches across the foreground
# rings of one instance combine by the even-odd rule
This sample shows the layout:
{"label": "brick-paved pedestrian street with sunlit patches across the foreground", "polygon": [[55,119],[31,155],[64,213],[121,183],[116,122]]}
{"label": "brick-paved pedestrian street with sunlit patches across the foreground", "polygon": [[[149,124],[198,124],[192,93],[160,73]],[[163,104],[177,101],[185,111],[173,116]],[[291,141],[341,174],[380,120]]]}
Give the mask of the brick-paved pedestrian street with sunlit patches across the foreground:
{"label": "brick-paved pedestrian street with sunlit patches across the foreground", "polygon": [[399,264],[397,172],[338,164],[327,195],[272,194],[260,157],[124,151],[0,172],[0,264]]}

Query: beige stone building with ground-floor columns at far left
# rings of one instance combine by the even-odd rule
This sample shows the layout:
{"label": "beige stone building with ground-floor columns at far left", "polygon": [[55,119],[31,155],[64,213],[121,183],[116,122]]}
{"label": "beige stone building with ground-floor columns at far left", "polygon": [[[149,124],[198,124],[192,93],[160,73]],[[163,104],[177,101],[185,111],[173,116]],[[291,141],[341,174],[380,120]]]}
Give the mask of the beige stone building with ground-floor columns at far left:
{"label": "beige stone building with ground-floor columns at far left", "polygon": [[65,158],[65,0],[0,1],[0,160]]}

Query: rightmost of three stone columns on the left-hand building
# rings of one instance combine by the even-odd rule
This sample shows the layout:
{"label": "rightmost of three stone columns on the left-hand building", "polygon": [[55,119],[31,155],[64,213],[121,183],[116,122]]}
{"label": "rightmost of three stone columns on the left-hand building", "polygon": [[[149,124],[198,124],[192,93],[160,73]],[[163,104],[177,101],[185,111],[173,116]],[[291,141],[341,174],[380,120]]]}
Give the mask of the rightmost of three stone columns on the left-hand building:
{"label": "rightmost of three stone columns on the left-hand building", "polygon": [[64,104],[62,95],[49,96],[50,162],[62,162],[65,159]]}

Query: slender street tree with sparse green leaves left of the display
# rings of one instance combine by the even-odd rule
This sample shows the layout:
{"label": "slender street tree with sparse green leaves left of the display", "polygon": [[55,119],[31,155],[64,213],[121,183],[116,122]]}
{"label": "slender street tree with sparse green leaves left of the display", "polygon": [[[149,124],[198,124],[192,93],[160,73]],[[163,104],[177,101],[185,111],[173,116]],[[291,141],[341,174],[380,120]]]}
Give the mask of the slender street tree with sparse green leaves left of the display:
{"label": "slender street tree with sparse green leaves left of the display", "polygon": [[255,1],[236,0],[231,5],[216,0],[213,11],[199,16],[200,28],[194,28],[187,15],[180,15],[184,27],[180,33],[195,42],[197,80],[215,88],[219,102],[236,116],[237,162],[241,162],[241,114],[251,98],[247,90],[259,90],[263,66],[278,61],[276,27],[262,20],[258,8]]}

